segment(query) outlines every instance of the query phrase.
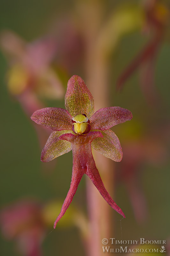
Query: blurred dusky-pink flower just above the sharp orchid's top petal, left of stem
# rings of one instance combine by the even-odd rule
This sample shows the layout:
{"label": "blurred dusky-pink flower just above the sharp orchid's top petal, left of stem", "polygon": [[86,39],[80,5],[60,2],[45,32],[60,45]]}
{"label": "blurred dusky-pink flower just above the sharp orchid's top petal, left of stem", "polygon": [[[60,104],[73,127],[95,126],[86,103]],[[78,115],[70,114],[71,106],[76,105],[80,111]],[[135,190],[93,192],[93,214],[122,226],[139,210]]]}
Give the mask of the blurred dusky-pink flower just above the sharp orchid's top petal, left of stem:
{"label": "blurred dusky-pink flower just above the sharp orchid's top petal, left of stem", "polygon": [[54,23],[51,30],[57,41],[54,65],[60,76],[64,74],[68,81],[71,74],[83,68],[85,42],[71,13]]}

